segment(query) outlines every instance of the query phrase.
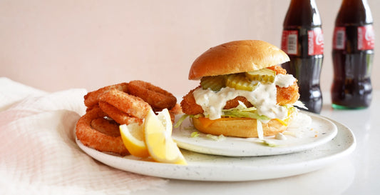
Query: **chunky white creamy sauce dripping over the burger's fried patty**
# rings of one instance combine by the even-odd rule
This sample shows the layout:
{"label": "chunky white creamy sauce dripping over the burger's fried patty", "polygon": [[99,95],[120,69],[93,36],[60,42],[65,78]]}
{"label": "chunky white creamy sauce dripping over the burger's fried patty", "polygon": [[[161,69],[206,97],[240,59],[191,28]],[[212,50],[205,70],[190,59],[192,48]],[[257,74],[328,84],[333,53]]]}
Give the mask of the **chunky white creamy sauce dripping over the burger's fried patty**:
{"label": "chunky white creamy sauce dripping over the burger's fried patty", "polygon": [[[278,76],[279,78],[277,79]],[[226,102],[230,99],[235,99],[237,96],[244,96],[257,108],[257,113],[260,115],[265,115],[269,119],[285,119],[287,117],[287,109],[277,105],[276,85],[290,86],[294,81],[295,79],[292,75],[284,76],[283,74],[277,74],[274,83],[259,83],[254,91],[225,87],[215,92],[210,89],[198,88],[195,89],[193,94],[195,102],[202,106],[203,114],[211,120],[220,119]]]}

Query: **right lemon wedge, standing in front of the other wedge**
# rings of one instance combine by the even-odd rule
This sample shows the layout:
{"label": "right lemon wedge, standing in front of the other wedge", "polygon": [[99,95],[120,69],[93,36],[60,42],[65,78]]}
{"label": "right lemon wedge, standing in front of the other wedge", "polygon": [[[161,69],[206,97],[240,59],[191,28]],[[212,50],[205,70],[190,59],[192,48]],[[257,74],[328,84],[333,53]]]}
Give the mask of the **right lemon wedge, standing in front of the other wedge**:
{"label": "right lemon wedge, standing in front of the other wedge", "polygon": [[145,144],[149,154],[158,162],[187,164],[171,137],[172,128],[173,124],[168,109],[161,111],[158,116],[150,110],[144,121]]}

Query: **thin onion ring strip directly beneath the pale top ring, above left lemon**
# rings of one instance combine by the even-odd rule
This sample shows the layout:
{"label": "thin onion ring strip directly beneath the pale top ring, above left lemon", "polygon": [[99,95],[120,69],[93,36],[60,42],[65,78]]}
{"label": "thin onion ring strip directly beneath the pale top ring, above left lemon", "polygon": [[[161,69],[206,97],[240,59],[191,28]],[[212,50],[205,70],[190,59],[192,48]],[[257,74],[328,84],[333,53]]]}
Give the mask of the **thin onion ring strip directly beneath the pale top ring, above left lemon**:
{"label": "thin onion ring strip directly beneath the pale top ring, above left lemon", "polygon": [[108,117],[116,121],[118,124],[143,124],[143,119],[130,116],[129,114],[120,111],[115,106],[112,106],[111,104],[108,104],[105,101],[99,101],[98,104],[102,111],[104,111]]}

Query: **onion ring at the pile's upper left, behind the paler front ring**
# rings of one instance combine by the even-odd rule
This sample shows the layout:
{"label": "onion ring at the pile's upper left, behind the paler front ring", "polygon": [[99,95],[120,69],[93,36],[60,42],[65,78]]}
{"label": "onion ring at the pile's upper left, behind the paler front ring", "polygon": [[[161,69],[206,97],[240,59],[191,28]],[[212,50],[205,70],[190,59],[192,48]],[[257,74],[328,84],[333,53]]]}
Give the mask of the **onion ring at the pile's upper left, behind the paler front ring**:
{"label": "onion ring at the pile's upper left, behind the paler front ring", "polygon": [[111,89],[117,89],[118,91],[123,91],[125,93],[128,92],[128,84],[127,83],[121,83],[121,84],[114,84],[110,86],[105,86],[101,89],[98,89],[96,91],[91,91],[88,94],[84,96],[84,105],[87,106],[88,109],[92,109],[93,106],[98,104],[99,97]]}

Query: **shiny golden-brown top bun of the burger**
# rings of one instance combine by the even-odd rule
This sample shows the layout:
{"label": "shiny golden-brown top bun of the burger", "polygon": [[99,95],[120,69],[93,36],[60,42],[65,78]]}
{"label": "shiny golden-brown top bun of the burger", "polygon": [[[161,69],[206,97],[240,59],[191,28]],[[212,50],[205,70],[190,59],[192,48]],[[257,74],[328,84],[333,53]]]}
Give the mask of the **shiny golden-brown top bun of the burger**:
{"label": "shiny golden-brown top bun of the burger", "polygon": [[284,51],[260,40],[231,41],[212,47],[192,63],[190,80],[255,71],[289,61]]}

